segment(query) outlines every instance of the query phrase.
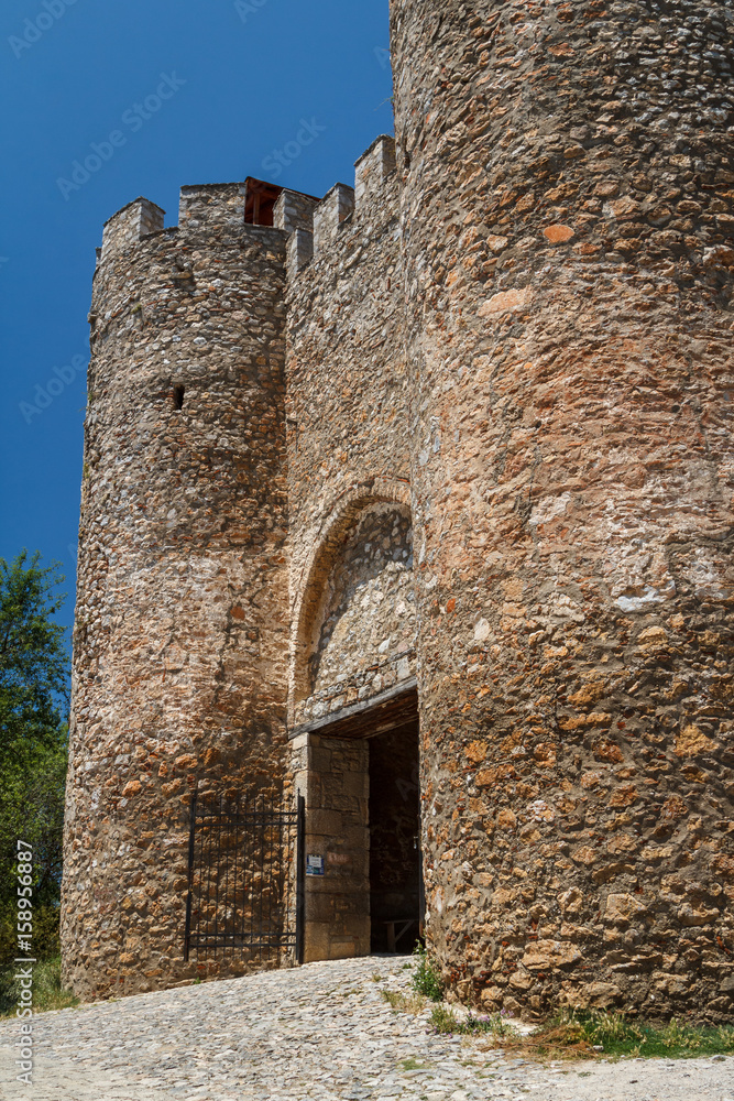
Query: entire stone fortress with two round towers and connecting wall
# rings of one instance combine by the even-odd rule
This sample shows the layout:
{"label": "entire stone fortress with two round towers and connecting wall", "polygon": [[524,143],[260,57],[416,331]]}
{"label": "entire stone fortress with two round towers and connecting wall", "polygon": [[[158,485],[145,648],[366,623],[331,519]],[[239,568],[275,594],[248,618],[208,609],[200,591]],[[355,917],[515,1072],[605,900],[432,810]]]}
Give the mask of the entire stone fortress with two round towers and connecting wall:
{"label": "entire stone fortress with two round towers and connecting wall", "polygon": [[201,974],[190,793],[299,792],[305,959],[384,948],[423,875],[464,1002],[731,1020],[734,11],[391,36],[353,188],[105,227],[66,979]]}

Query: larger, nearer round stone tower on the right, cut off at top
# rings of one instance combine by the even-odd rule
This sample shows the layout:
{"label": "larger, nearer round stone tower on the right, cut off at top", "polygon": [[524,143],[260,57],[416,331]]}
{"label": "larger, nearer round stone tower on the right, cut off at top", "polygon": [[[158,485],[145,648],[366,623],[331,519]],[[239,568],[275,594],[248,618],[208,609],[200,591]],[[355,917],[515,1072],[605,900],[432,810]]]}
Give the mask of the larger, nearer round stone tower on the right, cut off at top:
{"label": "larger, nearer round stone tower on the right, cut off at top", "polygon": [[393,0],[428,934],[487,1009],[734,998],[734,15]]}

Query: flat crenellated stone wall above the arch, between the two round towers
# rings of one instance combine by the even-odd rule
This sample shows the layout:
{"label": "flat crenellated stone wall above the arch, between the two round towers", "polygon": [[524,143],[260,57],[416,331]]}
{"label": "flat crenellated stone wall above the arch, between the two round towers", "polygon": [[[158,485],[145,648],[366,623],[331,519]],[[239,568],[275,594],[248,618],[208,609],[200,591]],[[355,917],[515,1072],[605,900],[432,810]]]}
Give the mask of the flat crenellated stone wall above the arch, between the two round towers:
{"label": "flat crenellated stone wall above the arch, between the two round towers", "polygon": [[[313,238],[304,230],[293,235],[288,266],[293,724],[318,713],[322,704],[304,700],[317,672],[313,655],[319,646],[324,592],[359,509],[336,535],[330,526],[333,517],[350,495],[360,498],[360,508],[385,495],[395,500],[377,486],[381,480],[407,491],[403,287],[392,139],[377,139],[360,157],[354,190],[342,184],[332,188],[316,207],[313,225]],[[296,238],[299,252],[294,251]],[[330,536],[332,546],[321,554]],[[343,669],[337,669],[333,656],[326,658],[319,689],[335,685],[327,668],[350,677],[363,668],[359,686],[354,682],[354,696],[371,694],[361,691],[373,679],[366,675],[375,656],[369,635],[365,625],[359,642],[353,636],[364,653],[360,658],[352,647]],[[398,674],[397,663],[393,664],[393,676],[409,675],[403,669]],[[338,698],[341,693],[332,695]]]}

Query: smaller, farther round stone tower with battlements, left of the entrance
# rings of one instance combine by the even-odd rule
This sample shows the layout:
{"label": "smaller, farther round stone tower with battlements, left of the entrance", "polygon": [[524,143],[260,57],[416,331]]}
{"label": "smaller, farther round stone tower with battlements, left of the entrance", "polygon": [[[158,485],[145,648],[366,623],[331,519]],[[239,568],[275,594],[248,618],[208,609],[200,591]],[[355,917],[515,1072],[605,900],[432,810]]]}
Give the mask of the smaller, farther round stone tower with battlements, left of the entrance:
{"label": "smaller, farther round stone tower with battlements, left of the entrance", "polygon": [[244,187],[138,199],[95,276],[62,939],[84,996],[171,985],[194,788],[283,786],[285,233]]}

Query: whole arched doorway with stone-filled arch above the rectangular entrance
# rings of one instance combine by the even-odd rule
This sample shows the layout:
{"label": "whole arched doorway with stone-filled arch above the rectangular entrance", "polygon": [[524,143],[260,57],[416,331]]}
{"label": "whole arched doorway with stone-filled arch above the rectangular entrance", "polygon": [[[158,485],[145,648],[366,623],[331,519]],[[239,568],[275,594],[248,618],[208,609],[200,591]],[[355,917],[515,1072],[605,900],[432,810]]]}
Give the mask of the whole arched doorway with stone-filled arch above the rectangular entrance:
{"label": "whole arched doorway with stone-filled arch above the rectangular entrance", "polygon": [[300,623],[291,738],[307,807],[307,961],[410,950],[420,922],[410,514],[359,504]]}

